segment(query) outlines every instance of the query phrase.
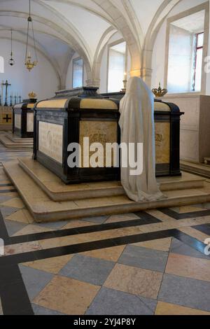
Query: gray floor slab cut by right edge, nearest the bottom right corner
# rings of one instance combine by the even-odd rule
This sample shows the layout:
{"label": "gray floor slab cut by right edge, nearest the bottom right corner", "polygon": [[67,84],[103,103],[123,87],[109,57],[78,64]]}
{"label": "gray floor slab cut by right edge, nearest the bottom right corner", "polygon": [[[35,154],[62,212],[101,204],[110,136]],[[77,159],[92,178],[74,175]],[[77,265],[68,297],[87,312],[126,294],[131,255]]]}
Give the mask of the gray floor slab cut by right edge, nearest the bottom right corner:
{"label": "gray floor slab cut by right edge, nearest the bottom right corner", "polygon": [[210,311],[210,282],[165,274],[158,300]]}

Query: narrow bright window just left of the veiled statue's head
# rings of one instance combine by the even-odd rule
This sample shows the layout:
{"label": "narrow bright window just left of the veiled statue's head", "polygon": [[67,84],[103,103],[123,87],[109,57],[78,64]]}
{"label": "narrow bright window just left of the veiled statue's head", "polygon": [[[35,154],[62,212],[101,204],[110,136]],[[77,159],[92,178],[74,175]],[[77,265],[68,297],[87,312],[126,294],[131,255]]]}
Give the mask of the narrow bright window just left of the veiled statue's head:
{"label": "narrow bright window just left of the veiled statue's head", "polygon": [[123,88],[126,53],[125,42],[109,48],[108,92],[119,92]]}

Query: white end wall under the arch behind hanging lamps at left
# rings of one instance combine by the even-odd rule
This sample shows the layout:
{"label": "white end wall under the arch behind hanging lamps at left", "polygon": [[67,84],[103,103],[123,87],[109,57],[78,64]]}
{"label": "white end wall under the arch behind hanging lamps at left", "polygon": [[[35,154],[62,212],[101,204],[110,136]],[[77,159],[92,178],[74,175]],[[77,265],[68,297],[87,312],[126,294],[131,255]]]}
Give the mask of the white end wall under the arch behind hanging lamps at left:
{"label": "white end wall under the arch behind hanging lamps at left", "polygon": [[[31,53],[33,50],[30,49]],[[10,91],[21,93],[23,99],[28,98],[31,91],[36,92],[38,99],[52,97],[59,85],[55,70],[48,59],[38,52],[38,65],[29,72],[25,68],[25,45],[14,41],[13,52],[15,65],[10,66],[10,41],[0,39],[0,56],[4,58],[4,73],[0,73],[0,82],[8,80]]]}

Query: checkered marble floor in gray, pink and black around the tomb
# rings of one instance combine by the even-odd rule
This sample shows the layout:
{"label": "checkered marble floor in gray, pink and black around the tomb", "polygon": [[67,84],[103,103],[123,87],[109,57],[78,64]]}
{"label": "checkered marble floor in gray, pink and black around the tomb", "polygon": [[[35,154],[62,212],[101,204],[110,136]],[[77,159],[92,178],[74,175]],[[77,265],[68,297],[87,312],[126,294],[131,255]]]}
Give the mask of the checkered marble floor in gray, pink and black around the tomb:
{"label": "checkered marble floor in gray, pink and black around the tomb", "polygon": [[0,167],[0,210],[0,314],[210,315],[210,204],[38,224]]}

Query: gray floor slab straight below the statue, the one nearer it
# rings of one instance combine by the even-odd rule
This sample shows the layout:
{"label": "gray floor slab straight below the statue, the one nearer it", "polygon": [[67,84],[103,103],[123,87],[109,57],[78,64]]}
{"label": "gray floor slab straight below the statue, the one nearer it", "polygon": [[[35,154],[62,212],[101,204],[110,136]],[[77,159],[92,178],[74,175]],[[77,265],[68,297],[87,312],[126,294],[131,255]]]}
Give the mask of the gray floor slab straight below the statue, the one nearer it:
{"label": "gray floor slab straight below the statue, the one nearer it", "polygon": [[168,253],[139,246],[127,246],[118,262],[124,265],[164,272]]}

